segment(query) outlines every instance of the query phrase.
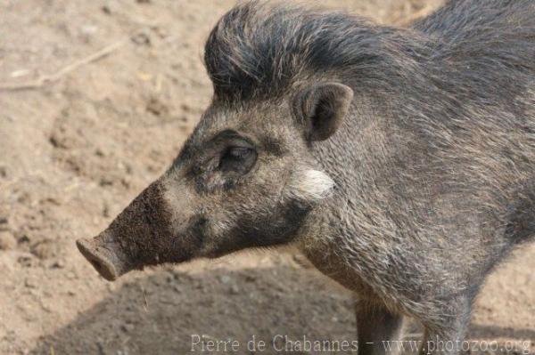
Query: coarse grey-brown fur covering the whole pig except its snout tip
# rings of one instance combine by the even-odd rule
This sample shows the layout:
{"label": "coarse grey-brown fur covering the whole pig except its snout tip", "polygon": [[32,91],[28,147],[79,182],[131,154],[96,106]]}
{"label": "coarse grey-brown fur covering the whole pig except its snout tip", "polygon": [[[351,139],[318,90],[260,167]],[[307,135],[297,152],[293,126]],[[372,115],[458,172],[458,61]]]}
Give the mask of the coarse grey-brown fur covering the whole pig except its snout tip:
{"label": "coarse grey-brown fur covering the whole pig except its snout tip", "polygon": [[[453,0],[402,29],[253,1],[219,20],[204,60],[209,109],[151,188],[159,202],[124,214],[163,206],[156,237],[187,242],[121,237],[123,258],[293,243],[357,294],[358,340],[375,343],[361,354],[403,315],[430,341],[463,340],[484,278],[535,234],[535,2]],[[235,134],[251,170],[221,167]]]}

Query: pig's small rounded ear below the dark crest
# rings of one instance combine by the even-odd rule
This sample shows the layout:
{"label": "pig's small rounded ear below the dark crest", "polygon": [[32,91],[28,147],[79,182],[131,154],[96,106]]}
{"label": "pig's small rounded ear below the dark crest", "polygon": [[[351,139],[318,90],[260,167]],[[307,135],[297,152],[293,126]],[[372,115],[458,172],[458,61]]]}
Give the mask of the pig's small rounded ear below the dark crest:
{"label": "pig's small rounded ear below the dark crest", "polygon": [[339,83],[314,85],[293,101],[295,114],[305,128],[309,141],[324,141],[342,124],[353,100],[353,90]]}

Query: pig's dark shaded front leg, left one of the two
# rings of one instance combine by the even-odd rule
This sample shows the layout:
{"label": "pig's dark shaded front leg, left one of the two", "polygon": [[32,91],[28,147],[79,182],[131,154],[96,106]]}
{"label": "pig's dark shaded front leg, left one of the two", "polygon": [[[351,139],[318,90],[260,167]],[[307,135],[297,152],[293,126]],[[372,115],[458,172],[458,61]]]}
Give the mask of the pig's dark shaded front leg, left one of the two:
{"label": "pig's dark shaded front leg, left one of the two", "polygon": [[[387,310],[383,304],[358,300],[355,302],[357,317],[358,355],[382,355],[397,353],[403,316]],[[390,348],[390,349],[389,349]]]}

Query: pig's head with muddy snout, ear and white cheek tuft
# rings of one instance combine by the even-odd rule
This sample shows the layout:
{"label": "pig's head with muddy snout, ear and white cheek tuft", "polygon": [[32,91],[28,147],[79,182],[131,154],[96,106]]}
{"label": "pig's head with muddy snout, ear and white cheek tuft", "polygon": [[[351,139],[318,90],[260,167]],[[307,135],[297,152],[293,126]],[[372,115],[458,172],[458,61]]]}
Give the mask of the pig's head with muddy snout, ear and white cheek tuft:
{"label": "pig's head with muddy snout, ear and white cheek tuft", "polygon": [[107,230],[77,242],[104,278],[291,243],[334,187],[310,149],[341,125],[352,90],[309,77],[274,93],[232,60],[228,26],[206,47],[213,101],[174,163]]}

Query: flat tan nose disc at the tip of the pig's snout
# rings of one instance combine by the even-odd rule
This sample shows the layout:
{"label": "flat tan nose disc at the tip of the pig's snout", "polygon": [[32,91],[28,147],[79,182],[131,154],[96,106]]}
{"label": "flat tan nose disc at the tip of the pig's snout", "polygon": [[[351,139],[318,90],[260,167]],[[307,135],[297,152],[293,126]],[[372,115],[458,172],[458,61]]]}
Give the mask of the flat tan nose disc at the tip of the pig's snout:
{"label": "flat tan nose disc at the tip of the pig's snout", "polygon": [[76,245],[80,253],[91,262],[103,278],[113,281],[128,272],[129,268],[127,263],[121,260],[117,246],[105,239],[103,235],[96,238],[80,238]]}

